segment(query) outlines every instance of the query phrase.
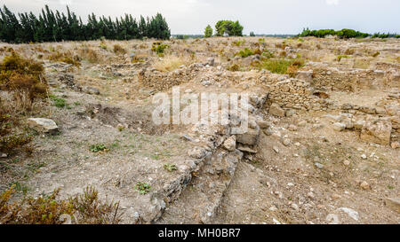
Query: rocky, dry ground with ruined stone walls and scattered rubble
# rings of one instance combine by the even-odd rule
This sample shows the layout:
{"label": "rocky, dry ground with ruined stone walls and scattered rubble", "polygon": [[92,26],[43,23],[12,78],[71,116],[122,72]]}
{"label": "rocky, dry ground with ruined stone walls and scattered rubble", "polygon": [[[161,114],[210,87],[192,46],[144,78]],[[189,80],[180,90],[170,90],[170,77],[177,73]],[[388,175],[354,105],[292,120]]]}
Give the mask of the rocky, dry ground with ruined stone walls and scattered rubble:
{"label": "rocky, dry ground with ruined stone walls and scattered rubble", "polygon": [[[51,88],[25,114],[32,152],[1,154],[0,191],[67,198],[92,185],[124,223],[400,222],[399,40],[156,44],[1,44],[2,57],[43,61]],[[247,93],[247,133],[232,133],[234,116],[157,126],[153,97],[177,86]]]}

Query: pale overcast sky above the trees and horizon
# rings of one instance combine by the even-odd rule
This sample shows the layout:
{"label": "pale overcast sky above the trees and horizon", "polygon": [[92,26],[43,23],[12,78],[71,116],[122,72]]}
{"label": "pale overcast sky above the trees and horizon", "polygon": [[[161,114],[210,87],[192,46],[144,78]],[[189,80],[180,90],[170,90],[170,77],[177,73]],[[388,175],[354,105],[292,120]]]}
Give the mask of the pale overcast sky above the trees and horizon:
{"label": "pale overcast sky above the trees and horizon", "polygon": [[203,34],[207,24],[239,20],[244,34],[298,34],[303,27],[354,28],[400,33],[399,0],[3,0],[13,12],[39,13],[44,4],[83,20],[131,13],[138,18],[161,12],[172,34]]}

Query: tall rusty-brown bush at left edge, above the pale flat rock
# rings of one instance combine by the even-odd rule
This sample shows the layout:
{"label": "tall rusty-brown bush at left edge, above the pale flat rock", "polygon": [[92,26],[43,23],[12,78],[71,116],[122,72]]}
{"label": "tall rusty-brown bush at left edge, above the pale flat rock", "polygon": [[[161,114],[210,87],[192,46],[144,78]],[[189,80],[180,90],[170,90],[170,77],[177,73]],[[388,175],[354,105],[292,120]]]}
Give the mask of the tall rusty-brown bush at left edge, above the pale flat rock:
{"label": "tall rusty-brown bush at left edge, above the pale flat rock", "polygon": [[13,98],[7,102],[0,99],[0,152],[12,154],[33,139],[21,129],[20,113],[31,110],[36,99],[46,96],[48,86],[42,64],[12,51],[0,63],[0,90],[10,91]]}

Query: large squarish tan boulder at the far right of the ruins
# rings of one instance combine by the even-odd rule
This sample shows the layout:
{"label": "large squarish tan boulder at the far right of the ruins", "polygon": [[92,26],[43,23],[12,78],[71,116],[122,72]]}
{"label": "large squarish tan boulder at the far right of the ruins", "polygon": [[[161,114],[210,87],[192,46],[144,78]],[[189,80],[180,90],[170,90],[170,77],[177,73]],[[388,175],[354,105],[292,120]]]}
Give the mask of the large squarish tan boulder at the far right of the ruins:
{"label": "large squarish tan boulder at the far right of the ruins", "polygon": [[361,130],[361,140],[368,143],[390,144],[392,123],[388,120],[366,121]]}

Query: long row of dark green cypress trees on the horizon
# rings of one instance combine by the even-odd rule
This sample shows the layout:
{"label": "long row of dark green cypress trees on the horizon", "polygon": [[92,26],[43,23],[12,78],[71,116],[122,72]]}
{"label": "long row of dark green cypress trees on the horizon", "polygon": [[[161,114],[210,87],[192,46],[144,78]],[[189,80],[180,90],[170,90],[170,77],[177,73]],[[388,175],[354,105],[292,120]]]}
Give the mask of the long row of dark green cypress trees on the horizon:
{"label": "long row of dark green cypress trees on the horizon", "polygon": [[16,15],[5,5],[0,8],[0,41],[7,43],[88,41],[102,37],[112,40],[169,39],[170,36],[170,28],[160,13],[151,19],[140,16],[140,20],[132,18],[131,14],[111,20],[92,13],[84,24],[68,6],[65,15],[64,12],[52,12],[45,5],[38,17],[32,12]]}

